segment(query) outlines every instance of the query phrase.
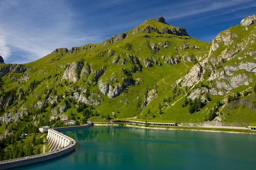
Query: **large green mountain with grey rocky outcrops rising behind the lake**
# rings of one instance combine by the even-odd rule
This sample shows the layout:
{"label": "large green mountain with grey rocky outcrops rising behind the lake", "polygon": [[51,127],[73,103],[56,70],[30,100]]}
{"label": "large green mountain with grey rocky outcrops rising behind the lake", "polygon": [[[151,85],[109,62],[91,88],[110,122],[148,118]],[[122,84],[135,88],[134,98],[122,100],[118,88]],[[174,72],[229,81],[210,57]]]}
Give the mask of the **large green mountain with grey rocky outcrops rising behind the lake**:
{"label": "large green mountain with grey rocky outcrops rising behind the lake", "polygon": [[99,44],[1,64],[0,120],[22,127],[136,116],[246,126],[256,122],[255,20],[202,42],[158,17]]}

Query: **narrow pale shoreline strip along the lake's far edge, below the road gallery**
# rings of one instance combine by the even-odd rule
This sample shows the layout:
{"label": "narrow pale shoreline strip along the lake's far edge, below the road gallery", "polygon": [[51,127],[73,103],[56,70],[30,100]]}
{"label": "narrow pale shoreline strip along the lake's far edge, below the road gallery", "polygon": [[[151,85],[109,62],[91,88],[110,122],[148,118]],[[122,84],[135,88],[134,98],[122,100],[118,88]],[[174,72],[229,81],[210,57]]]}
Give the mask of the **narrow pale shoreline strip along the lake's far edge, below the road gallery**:
{"label": "narrow pale shoreline strip along the lake's far edge, below the road gallery", "polygon": [[[94,122],[94,126],[121,126],[118,124],[96,124],[96,122]],[[256,133],[249,133],[249,132],[236,132],[236,131],[227,131],[227,130],[207,130],[207,129],[193,129],[193,128],[210,128],[210,127],[194,127],[191,126],[189,128],[191,129],[184,129],[182,128],[183,126],[178,126],[180,128],[167,128],[167,127],[143,127],[143,126],[136,126],[136,125],[126,125],[123,124],[123,126],[127,126],[127,127],[136,127],[136,128],[143,128],[143,129],[158,129],[158,130],[190,130],[190,131],[203,131],[203,132],[224,132],[224,133],[241,133],[241,134],[253,134],[256,135]],[[186,126],[187,127],[187,126]],[[214,127],[212,127],[214,128]],[[219,128],[219,129],[225,129],[225,128]],[[233,129],[230,129],[233,130]],[[236,130],[236,129],[235,129]]]}

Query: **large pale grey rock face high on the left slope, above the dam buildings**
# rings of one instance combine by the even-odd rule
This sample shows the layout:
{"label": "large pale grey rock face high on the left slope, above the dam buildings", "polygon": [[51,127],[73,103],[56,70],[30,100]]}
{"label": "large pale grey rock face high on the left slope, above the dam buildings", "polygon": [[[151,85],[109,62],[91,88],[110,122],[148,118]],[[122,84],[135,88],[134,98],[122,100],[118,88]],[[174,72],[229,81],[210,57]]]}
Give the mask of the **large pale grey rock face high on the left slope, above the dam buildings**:
{"label": "large pale grey rock face high on the left slope, above the dam buildings", "polygon": [[83,66],[83,62],[72,62],[69,66],[67,66],[66,70],[64,71],[62,79],[69,79],[70,82],[78,81]]}

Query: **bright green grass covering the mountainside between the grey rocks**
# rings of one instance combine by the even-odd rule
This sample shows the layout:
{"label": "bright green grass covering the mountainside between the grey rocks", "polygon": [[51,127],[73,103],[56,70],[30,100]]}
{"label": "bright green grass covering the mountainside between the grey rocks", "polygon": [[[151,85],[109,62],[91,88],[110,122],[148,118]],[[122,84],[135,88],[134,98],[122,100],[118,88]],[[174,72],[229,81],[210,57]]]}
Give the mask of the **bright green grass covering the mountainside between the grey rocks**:
{"label": "bright green grass covering the mountainside between the grey rocks", "polygon": [[[118,42],[110,43],[108,45],[104,45],[106,41],[101,42],[99,44],[87,44],[79,47],[79,51],[74,51],[71,53],[70,51],[64,52],[62,48],[58,49],[57,53],[52,52],[47,56],[38,59],[34,62],[30,62],[25,64],[28,66],[26,73],[29,75],[29,79],[27,81],[22,81],[21,78],[25,75],[25,73],[13,73],[12,71],[2,77],[4,91],[9,91],[11,89],[17,88],[16,96],[19,96],[18,89],[22,88],[23,91],[28,91],[30,83],[34,81],[42,81],[40,85],[38,85],[34,91],[28,92],[29,95],[26,96],[26,101],[16,99],[16,104],[9,106],[6,108],[6,111],[12,112],[17,110],[17,112],[22,110],[22,107],[26,107],[28,111],[32,111],[32,108],[36,108],[36,104],[41,98],[41,101],[51,101],[55,95],[50,94],[49,98],[46,99],[46,93],[49,89],[53,89],[56,91],[57,95],[63,96],[64,92],[67,91],[68,94],[71,92],[81,91],[81,96],[84,96],[84,91],[86,89],[90,90],[90,98],[87,100],[90,101],[89,104],[93,105],[94,102],[100,102],[100,105],[94,105],[95,111],[99,113],[99,115],[103,114],[104,116],[109,114],[113,119],[113,114],[116,115],[117,119],[127,119],[134,116],[137,116],[137,119],[145,120],[148,122],[172,122],[175,121],[177,123],[183,122],[193,122],[193,123],[203,123],[205,122],[205,116],[209,117],[209,110],[212,109],[217,100],[224,101],[227,98],[228,94],[233,94],[236,91],[244,91],[249,87],[253,87],[254,82],[256,81],[256,76],[254,73],[250,73],[245,70],[234,71],[233,75],[245,74],[250,82],[246,85],[241,85],[237,88],[233,88],[229,91],[229,93],[220,96],[215,95],[211,96],[212,100],[207,102],[207,105],[204,108],[199,109],[197,112],[190,114],[188,112],[188,107],[181,107],[184,103],[184,96],[186,93],[195,91],[196,88],[200,88],[199,85],[196,88],[188,89],[188,91],[184,90],[184,87],[180,88],[180,85],[177,85],[177,80],[183,78],[189,69],[193,68],[194,61],[192,62],[181,62],[180,54],[183,56],[185,54],[193,55],[198,62],[204,60],[208,57],[211,42],[202,42],[193,37],[189,36],[175,36],[171,34],[158,34],[157,32],[151,31],[151,33],[142,32],[145,26],[152,26],[161,30],[164,27],[168,27],[172,29],[174,26],[169,26],[164,23],[155,22],[155,20],[148,20],[136,28],[125,32],[129,34],[125,39],[119,40]],[[139,28],[139,31],[133,32]],[[234,34],[238,34],[239,36],[233,36],[232,40],[235,44],[244,42],[244,38],[250,36],[253,31],[255,31],[255,26],[248,26],[248,31],[244,31],[241,26],[234,26],[230,28],[230,31]],[[226,36],[227,31],[223,31],[220,34]],[[148,35],[148,38],[143,37]],[[158,37],[156,37],[158,36]],[[162,36],[162,37],[159,37]],[[217,42],[217,40],[215,40]],[[161,47],[157,43],[166,43],[168,48]],[[188,43],[188,45],[197,45],[200,47],[200,50],[197,49],[186,49],[180,50],[180,46],[184,43]],[[156,44],[160,50],[154,51],[151,48],[151,44]],[[219,58],[221,53],[227,48],[227,45],[224,45],[224,42],[218,42],[219,48],[216,51],[212,51],[212,55],[209,57],[209,60],[216,59],[221,61]],[[88,48],[88,46],[95,46],[94,48]],[[237,45],[235,45],[237,47]],[[255,45],[248,44],[244,51],[237,53],[233,58],[227,60],[226,62],[213,63],[208,61],[207,67],[211,67],[211,64],[216,69],[213,71],[221,71],[227,65],[236,66],[241,62],[253,62],[253,57],[244,57],[244,52],[248,50],[256,50]],[[87,49],[82,50],[82,47],[86,47]],[[128,48],[129,47],[129,48]],[[234,45],[229,46],[228,51],[236,50]],[[175,50],[177,48],[178,50]],[[104,50],[107,50],[106,53],[103,53]],[[109,57],[108,51],[114,51],[113,56]],[[60,55],[59,53],[63,54]],[[132,61],[132,57],[134,56],[139,59],[140,62]],[[113,58],[119,56],[120,59],[117,63],[113,63]],[[167,65],[166,59],[162,59],[162,56],[168,57],[177,57],[180,61],[178,64]],[[238,57],[243,57],[239,59]],[[158,63],[162,63],[162,66],[156,65],[155,63],[151,63],[152,67],[145,68],[143,60],[152,58],[155,59]],[[121,60],[125,60],[125,65],[122,65]],[[69,67],[70,63],[82,61],[85,67],[88,68],[87,64],[90,66],[91,73],[85,74],[81,76],[78,74],[79,71],[75,71],[74,75],[79,77],[77,82],[70,82],[67,80],[67,85],[64,84],[63,74],[66,67]],[[107,95],[102,94],[99,90],[99,81],[108,82],[113,86],[122,84],[123,79],[127,78],[127,75],[122,71],[122,69],[130,70],[133,67],[140,68],[142,70],[137,70],[134,73],[131,73],[132,78],[134,79],[134,85],[128,86],[125,90],[115,98],[108,98]],[[5,67],[5,65],[1,65],[1,67]],[[93,82],[96,71],[100,71],[102,67],[105,67],[106,71],[104,74],[99,77],[98,84]],[[57,75],[55,77],[55,74]],[[12,79],[11,76],[14,75],[16,78]],[[51,76],[51,78],[48,78]],[[208,85],[208,87],[216,88],[216,82],[225,82],[230,78],[226,74],[224,74],[221,80],[213,80],[212,82],[207,81],[208,77],[204,77],[204,85]],[[111,81],[112,79],[112,81]],[[117,82],[116,82],[117,80]],[[63,85],[61,87],[61,84]],[[181,83],[182,84],[182,83]],[[178,94],[174,99],[170,102],[163,102],[164,98],[168,99],[172,98],[175,94],[173,93],[173,89],[177,85],[177,89],[180,90],[180,94]],[[146,94],[146,91],[150,92],[152,90],[157,91],[156,94],[152,95],[152,100],[147,104],[145,108],[142,108],[143,102],[145,100],[145,96],[150,94]],[[224,90],[224,88],[217,89],[218,91]],[[94,94],[94,96],[93,96]],[[99,96],[96,96],[98,94]],[[60,100],[58,103],[63,105],[64,99],[67,97],[73,98],[73,96],[68,95]],[[255,102],[253,96],[246,96],[250,102]],[[245,97],[245,98],[246,98]],[[82,97],[81,97],[82,98]],[[80,98],[80,99],[81,99]],[[242,97],[241,97],[242,98]],[[83,98],[82,98],[83,99]],[[84,101],[84,99],[83,99]],[[158,105],[161,105],[161,114],[159,113]],[[55,108],[47,108],[47,111],[44,114],[46,119],[49,119],[51,116],[55,118],[57,116],[70,116],[71,111],[79,116],[80,118],[83,116],[82,112],[77,113],[77,106],[72,105],[70,109],[67,109],[64,113],[59,113],[53,115],[53,110],[58,109],[58,105]],[[140,107],[138,107],[140,105]],[[148,109],[150,109],[150,114],[148,114]],[[219,115],[221,118],[221,122],[230,123],[232,125],[241,124],[247,125],[249,122],[256,122],[256,110],[250,111],[248,106],[239,106],[234,109],[227,109],[227,107],[223,108],[223,115]],[[16,112],[15,112],[16,113]],[[15,114],[14,113],[14,114]],[[14,116],[14,114],[12,116]],[[43,114],[39,116],[39,118],[43,117]],[[31,116],[32,117],[32,116]],[[92,121],[103,121],[100,116],[93,116],[89,120]],[[130,120],[130,119],[129,119]],[[35,121],[33,119],[33,121]],[[19,127],[24,127],[28,122],[24,122],[21,120],[17,121],[19,123]],[[0,127],[0,132],[3,133],[3,126]]]}

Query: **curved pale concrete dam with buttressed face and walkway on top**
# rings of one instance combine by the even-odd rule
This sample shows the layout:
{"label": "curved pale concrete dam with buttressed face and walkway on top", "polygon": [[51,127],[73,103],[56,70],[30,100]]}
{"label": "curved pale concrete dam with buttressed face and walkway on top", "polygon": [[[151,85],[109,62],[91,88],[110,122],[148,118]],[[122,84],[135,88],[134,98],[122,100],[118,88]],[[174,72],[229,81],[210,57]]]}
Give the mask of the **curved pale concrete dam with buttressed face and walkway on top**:
{"label": "curved pale concrete dam with buttressed face and walkway on top", "polygon": [[65,154],[75,151],[76,141],[60,132],[58,130],[73,130],[81,129],[85,127],[91,127],[93,123],[88,123],[81,126],[70,126],[70,127],[58,127],[48,130],[47,141],[50,144],[50,151],[47,153],[41,153],[32,156],[26,156],[22,158],[9,159],[6,161],[0,161],[0,170],[5,170],[14,167],[20,167],[28,164],[34,164],[41,161],[47,161],[54,159]]}

